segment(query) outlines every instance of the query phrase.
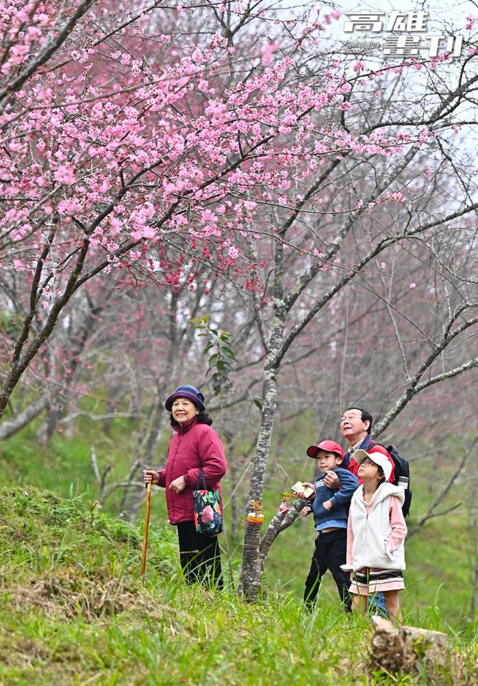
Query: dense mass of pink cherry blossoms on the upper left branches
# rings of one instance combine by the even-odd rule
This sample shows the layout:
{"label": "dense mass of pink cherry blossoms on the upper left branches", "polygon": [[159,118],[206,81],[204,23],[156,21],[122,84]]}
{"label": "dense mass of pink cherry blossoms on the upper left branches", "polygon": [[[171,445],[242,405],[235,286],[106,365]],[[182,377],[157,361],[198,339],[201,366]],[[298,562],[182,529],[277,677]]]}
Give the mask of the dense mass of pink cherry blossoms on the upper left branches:
{"label": "dense mass of pink cherry blossoms on the upper left branches", "polygon": [[[109,7],[97,3],[95,21],[102,6]],[[386,158],[428,139],[427,130],[360,135],[331,123],[334,109],[353,112],[340,63],[307,82],[291,80],[294,51],[274,40],[260,48],[260,68],[249,78],[223,83],[234,48],[218,34],[154,62],[145,58],[146,38],[143,45],[135,36],[129,45],[133,38],[126,37],[106,49],[78,26],[55,54],[62,69],[37,69],[10,97],[10,80],[55,40],[62,17],[53,1],[9,7],[0,24],[8,38],[0,240],[4,259],[15,248],[7,264],[16,270],[32,274],[52,235],[55,250],[44,269],[57,278],[86,240],[90,264],[103,259],[107,270],[135,256],[150,259],[141,246],[158,248],[179,236],[190,253],[214,254],[218,269],[237,268],[241,239],[261,235],[263,206],[282,196],[289,204],[286,195],[297,194],[327,162]],[[323,29],[312,24],[299,43]],[[170,50],[166,34],[160,42]],[[353,70],[363,68],[357,62]],[[397,193],[386,199],[401,200]],[[184,276],[177,266],[168,276],[172,285]]]}

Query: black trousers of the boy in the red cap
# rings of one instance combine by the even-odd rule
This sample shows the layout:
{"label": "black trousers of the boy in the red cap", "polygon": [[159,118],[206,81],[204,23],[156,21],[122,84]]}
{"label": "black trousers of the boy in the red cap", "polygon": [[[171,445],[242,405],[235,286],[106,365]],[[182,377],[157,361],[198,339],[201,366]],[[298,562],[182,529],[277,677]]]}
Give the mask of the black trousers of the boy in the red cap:
{"label": "black trousers of the boy in the red cap", "polygon": [[344,603],[345,611],[351,612],[350,572],[340,569],[340,565],[344,565],[346,560],[347,529],[335,529],[317,536],[309,576],[305,580],[304,602],[308,608],[313,608],[320,580],[329,569],[337,584],[338,594]]}

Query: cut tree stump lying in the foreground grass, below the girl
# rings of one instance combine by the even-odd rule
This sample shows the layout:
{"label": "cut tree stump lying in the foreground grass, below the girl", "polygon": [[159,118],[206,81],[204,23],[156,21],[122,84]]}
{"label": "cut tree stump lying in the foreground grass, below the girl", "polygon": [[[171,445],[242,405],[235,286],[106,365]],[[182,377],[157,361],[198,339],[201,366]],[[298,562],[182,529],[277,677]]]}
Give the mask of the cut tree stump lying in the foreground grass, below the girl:
{"label": "cut tree stump lying in the foreground grass, below the girl", "polygon": [[397,627],[383,617],[372,617],[372,621],[375,632],[370,660],[374,666],[408,674],[418,674],[425,668],[429,683],[456,667],[452,664],[449,637],[441,631]]}

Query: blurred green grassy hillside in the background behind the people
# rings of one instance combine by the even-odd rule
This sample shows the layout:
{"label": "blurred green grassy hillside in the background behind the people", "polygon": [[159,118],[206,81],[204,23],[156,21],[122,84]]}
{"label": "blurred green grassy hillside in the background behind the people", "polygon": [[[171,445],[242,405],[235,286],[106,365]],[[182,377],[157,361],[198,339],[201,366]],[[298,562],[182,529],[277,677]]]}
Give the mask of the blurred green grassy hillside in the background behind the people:
{"label": "blurred green grassy hillside in the background behind the people", "polygon": [[[303,422],[301,425],[300,422]],[[310,418],[294,419],[291,427],[278,427],[275,446],[271,451],[271,467],[268,469],[266,491],[264,493],[264,512],[266,520],[273,515],[281,501],[281,493],[290,484],[301,480],[312,479],[314,463],[304,457],[308,442],[304,436],[310,436]],[[107,465],[112,466],[108,475],[109,482],[123,480],[131,462],[134,446],[132,425],[127,419],[116,419],[110,427],[110,434],[103,431],[101,423],[79,418],[73,436],[64,438],[55,434],[47,449],[38,449],[35,442],[37,425],[33,423],[10,440],[0,443],[0,484],[33,484],[38,488],[47,488],[63,496],[72,497],[79,493],[90,493],[94,500],[97,497],[97,484],[90,464],[90,445],[95,444],[100,471]],[[163,455],[167,447],[166,432],[158,455]],[[245,439],[244,439],[245,440]],[[249,438],[247,438],[249,442]],[[240,452],[240,448],[238,449]],[[158,459],[158,463],[161,459]],[[280,466],[277,464],[280,463]],[[286,466],[287,472],[284,470]],[[440,478],[446,476],[451,466],[440,464],[436,472]],[[412,464],[412,485],[414,501],[412,514],[408,518],[409,528],[421,516],[430,499],[429,460]],[[245,501],[247,477],[239,489],[239,496]],[[225,501],[231,493],[232,485],[223,482]],[[108,499],[106,508],[118,512],[119,492]],[[442,504],[446,509],[450,504],[463,499],[462,486],[452,491],[449,499]],[[236,539],[230,533],[222,537],[225,552],[231,558],[231,565],[237,569],[240,564],[242,530]],[[153,498],[152,526],[164,525],[167,521],[164,496],[156,491]],[[407,589],[402,594],[405,612],[410,613],[410,621],[418,622],[419,617],[430,607],[438,611],[442,621],[454,626],[460,619],[466,618],[470,607],[470,556],[471,535],[466,514],[446,515],[432,519],[418,534],[407,541],[407,571],[405,582]],[[310,565],[310,556],[314,548],[314,528],[312,518],[298,521],[292,528],[281,534],[271,548],[266,566],[266,577],[270,587],[292,593],[300,600],[303,582]],[[327,575],[328,576],[328,575]],[[324,592],[335,594],[334,583],[325,578]],[[418,615],[418,617],[417,617]],[[464,619],[463,624],[466,624]]]}

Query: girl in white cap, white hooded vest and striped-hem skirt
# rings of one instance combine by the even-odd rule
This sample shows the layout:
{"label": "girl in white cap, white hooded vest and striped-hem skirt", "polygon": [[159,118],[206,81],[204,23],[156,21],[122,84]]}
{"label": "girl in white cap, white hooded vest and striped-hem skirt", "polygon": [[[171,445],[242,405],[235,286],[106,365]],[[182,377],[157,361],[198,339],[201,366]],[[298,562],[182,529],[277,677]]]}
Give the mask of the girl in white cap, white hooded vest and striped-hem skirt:
{"label": "girl in white cap, white hooded vest and striped-hem skirt", "polygon": [[344,565],[353,570],[349,591],[355,607],[364,611],[370,594],[383,593],[388,615],[399,619],[399,591],[405,588],[405,492],[388,483],[391,464],[386,456],[359,449],[353,457],[363,483],[353,494],[349,512]]}

